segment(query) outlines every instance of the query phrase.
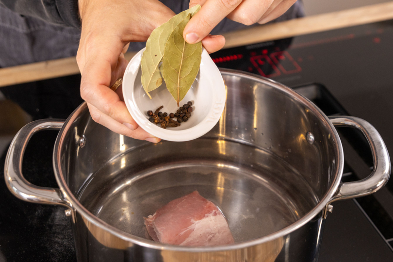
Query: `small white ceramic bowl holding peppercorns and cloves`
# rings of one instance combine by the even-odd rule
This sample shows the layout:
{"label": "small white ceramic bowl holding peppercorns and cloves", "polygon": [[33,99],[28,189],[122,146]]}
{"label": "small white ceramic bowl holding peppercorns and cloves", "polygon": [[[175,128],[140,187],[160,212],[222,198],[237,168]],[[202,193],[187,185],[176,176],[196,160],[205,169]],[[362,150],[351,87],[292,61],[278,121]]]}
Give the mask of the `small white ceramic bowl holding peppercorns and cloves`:
{"label": "small white ceramic bowl holding peppercorns and cloves", "polygon": [[[140,50],[130,61],[123,76],[123,97],[133,119],[150,134],[168,141],[189,141],[209,132],[221,117],[226,101],[224,81],[210,58],[203,49],[202,60],[196,80],[180,105],[193,102],[193,112],[187,122],[180,127],[163,129],[148,120],[147,111],[153,112],[160,106],[163,113],[176,113],[179,109],[175,99],[166,89],[165,82],[150,92],[148,98],[141,83],[141,57],[145,49]],[[174,119],[176,120],[176,119]]]}

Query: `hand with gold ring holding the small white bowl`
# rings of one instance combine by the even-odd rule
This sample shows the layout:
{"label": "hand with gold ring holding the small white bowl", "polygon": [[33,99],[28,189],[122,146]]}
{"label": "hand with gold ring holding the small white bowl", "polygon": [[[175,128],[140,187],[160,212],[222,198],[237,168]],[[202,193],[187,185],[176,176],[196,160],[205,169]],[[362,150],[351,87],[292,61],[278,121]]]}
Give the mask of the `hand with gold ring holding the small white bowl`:
{"label": "hand with gold ring holding the small white bowl", "polygon": [[[130,42],[146,41],[150,33],[175,15],[158,0],[79,0],[82,34],[77,63],[82,74],[81,97],[90,115],[110,130],[140,140],[160,141],[132,119],[119,87],[109,87],[122,77]],[[208,52],[221,49],[222,35],[207,36],[202,44]]]}

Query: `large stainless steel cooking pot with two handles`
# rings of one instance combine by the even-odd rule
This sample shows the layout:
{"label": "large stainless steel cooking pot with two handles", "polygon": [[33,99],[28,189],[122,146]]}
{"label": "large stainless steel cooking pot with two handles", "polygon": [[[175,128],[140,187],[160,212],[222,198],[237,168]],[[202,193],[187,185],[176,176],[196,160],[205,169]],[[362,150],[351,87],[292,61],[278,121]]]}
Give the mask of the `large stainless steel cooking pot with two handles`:
{"label": "large stainless steel cooking pot with two handles", "polygon": [[[67,207],[79,262],[316,261],[326,213],[335,200],[376,192],[390,160],[379,133],[350,116],[327,117],[277,82],[221,70],[227,103],[219,123],[188,142],[151,144],[95,123],[83,103],[64,120],[38,120],[15,136],[5,163],[20,199]],[[198,104],[195,104],[198,110]],[[334,126],[359,129],[374,170],[342,183],[344,154]],[[23,178],[31,136],[57,129],[53,168],[59,189]],[[147,239],[143,216],[194,190],[229,221],[235,244],[171,246]]]}

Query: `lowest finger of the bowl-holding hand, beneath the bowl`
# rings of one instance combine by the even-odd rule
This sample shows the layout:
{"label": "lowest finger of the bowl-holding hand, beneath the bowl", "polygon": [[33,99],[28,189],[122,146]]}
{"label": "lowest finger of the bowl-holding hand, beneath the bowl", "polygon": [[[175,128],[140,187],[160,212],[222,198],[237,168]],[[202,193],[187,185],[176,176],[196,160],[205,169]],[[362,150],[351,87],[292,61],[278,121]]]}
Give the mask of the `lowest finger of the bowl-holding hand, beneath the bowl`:
{"label": "lowest finger of the bowl-holding hand, beneath the bowl", "polygon": [[114,119],[112,119],[108,115],[103,114],[101,111],[99,111],[95,106],[93,106],[90,103],[87,103],[87,106],[89,108],[90,115],[93,118],[93,120],[95,122],[97,122],[98,124],[101,124],[101,125],[109,128],[111,131],[114,131],[116,133],[119,133],[119,134],[122,134],[125,136],[129,136],[129,137],[132,137],[135,139],[146,140],[146,141],[149,141],[152,143],[158,143],[161,140],[157,137],[150,135],[145,130],[143,130],[141,127],[138,127],[137,129],[132,130],[132,126],[130,126],[131,127],[131,129],[130,129],[126,125],[120,124],[119,122],[115,121]]}

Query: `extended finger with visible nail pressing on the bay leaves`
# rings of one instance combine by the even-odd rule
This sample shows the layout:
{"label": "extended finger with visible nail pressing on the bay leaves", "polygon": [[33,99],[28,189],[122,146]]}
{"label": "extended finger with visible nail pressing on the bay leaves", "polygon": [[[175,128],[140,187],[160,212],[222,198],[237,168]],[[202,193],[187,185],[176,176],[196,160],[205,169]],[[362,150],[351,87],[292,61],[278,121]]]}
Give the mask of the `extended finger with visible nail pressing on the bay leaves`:
{"label": "extended finger with visible nail pressing on the bay leaves", "polygon": [[189,44],[205,38],[242,0],[207,0],[186,25],[183,37]]}

